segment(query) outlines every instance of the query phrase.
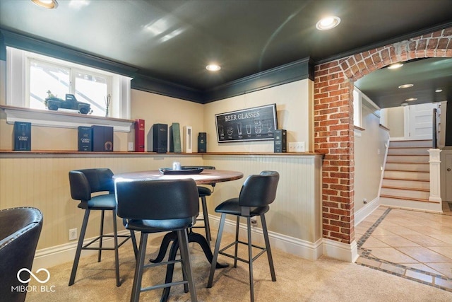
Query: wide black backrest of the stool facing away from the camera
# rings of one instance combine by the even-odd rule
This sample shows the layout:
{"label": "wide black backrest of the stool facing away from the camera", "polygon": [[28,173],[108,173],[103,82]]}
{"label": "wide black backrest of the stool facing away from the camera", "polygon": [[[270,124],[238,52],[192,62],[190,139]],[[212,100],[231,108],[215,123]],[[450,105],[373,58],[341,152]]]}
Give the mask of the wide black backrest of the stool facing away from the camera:
{"label": "wide black backrest of the stool facing away from the camera", "polygon": [[117,214],[127,219],[186,219],[198,216],[196,182],[182,180],[121,180],[115,182]]}

